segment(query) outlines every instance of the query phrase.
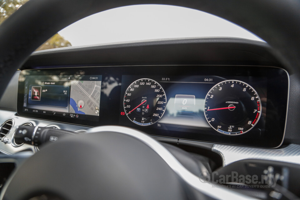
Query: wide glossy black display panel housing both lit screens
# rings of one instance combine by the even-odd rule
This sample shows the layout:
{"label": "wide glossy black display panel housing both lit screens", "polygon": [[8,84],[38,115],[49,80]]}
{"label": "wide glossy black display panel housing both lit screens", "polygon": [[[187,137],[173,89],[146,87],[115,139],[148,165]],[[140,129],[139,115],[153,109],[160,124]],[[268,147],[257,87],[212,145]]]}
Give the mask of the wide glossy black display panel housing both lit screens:
{"label": "wide glossy black display panel housing both lit screens", "polygon": [[271,66],[52,66],[22,70],[17,113],[87,127],[260,148],[282,144],[288,73]]}

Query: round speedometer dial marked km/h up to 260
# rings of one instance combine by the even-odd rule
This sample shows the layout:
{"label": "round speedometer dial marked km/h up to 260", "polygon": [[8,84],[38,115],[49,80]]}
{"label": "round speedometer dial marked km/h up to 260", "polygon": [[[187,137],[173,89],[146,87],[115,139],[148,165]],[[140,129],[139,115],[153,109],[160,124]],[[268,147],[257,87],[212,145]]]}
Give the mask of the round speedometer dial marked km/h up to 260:
{"label": "round speedometer dial marked km/h up to 260", "polygon": [[133,82],[124,95],[124,111],[127,117],[141,126],[156,123],[163,116],[166,104],[163,88],[148,78]]}

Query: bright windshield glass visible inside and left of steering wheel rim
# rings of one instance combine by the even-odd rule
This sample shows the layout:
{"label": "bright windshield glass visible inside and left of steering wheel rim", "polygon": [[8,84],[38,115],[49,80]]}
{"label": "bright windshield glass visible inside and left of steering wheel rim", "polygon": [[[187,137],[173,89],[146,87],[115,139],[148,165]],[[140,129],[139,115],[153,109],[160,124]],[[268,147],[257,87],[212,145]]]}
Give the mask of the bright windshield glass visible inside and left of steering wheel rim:
{"label": "bright windshield glass visible inside and left of steering wheel rim", "polygon": [[[0,23],[28,0],[4,0]],[[246,29],[198,10],[168,5],[114,8],[83,18],[59,31],[38,50],[186,37],[239,37],[262,41]]]}

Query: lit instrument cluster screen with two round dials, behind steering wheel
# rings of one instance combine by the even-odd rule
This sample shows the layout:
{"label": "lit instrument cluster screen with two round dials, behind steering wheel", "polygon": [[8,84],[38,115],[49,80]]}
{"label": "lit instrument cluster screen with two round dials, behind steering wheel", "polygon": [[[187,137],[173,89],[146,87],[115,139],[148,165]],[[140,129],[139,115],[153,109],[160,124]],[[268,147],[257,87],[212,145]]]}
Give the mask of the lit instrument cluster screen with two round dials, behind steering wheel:
{"label": "lit instrument cluster screen with two round dials, behind steering wheel", "polygon": [[246,135],[264,133],[267,100],[264,78],[154,76],[135,79],[135,76],[122,77],[125,93],[120,108],[124,115],[120,121],[123,124],[131,121],[135,126],[198,129],[227,136],[250,130],[252,134]]}

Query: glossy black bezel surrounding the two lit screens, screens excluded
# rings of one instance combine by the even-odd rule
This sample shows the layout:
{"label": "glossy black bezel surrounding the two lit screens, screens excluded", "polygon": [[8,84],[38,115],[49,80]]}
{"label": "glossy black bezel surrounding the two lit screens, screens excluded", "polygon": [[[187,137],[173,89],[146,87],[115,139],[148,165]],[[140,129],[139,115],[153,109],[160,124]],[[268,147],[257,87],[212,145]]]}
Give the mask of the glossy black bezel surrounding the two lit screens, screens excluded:
{"label": "glossy black bezel surrounding the two lit screens, screens excluded", "polygon": [[[117,87],[114,93],[109,97],[110,102],[106,102],[101,94],[100,99],[100,115],[98,121],[84,120],[84,119],[68,119],[53,116],[44,116],[42,114],[24,113],[22,111],[24,82],[22,78],[19,79],[18,86],[18,103],[17,113],[20,116],[31,117],[37,119],[45,119],[56,122],[78,124],[84,126],[101,126],[101,125],[122,125],[139,129],[145,133],[155,136],[178,138],[192,141],[203,141],[210,143],[223,143],[232,145],[252,146],[261,148],[276,148],[281,145],[287,115],[287,101],[289,80],[288,74],[285,70],[275,67],[261,67],[261,66],[109,66],[109,67],[73,67],[73,66],[59,66],[65,68],[49,68],[49,69],[33,69],[24,70],[21,75],[58,75],[58,74],[78,74],[80,72],[85,75],[102,75],[102,80],[106,77],[114,77],[123,84],[122,76],[132,76],[134,80],[144,77],[166,77],[166,76],[220,76],[226,79],[237,79],[249,83],[251,78],[258,78],[266,80],[267,99],[266,104],[266,123],[263,127],[263,133],[254,134],[254,130],[246,134],[231,137],[216,132],[215,130],[194,130],[178,126],[170,129],[168,127],[142,127],[133,124],[126,116],[121,116],[120,112],[124,112],[121,104],[123,95],[121,86]],[[183,70],[184,69],[184,70]],[[234,72],[232,74],[232,72]],[[158,75],[159,74],[159,75]],[[131,82],[132,83],[132,82]],[[252,83],[249,83],[252,85]],[[253,86],[253,85],[252,85]],[[166,90],[166,88],[162,85]],[[253,86],[254,87],[254,86]],[[208,91],[207,91],[208,92]],[[168,96],[168,94],[166,94]],[[168,97],[170,98],[170,97]],[[167,99],[168,102],[168,99]],[[109,104],[109,105],[108,105]],[[119,106],[116,106],[119,105]],[[126,118],[127,122],[124,122]]]}

